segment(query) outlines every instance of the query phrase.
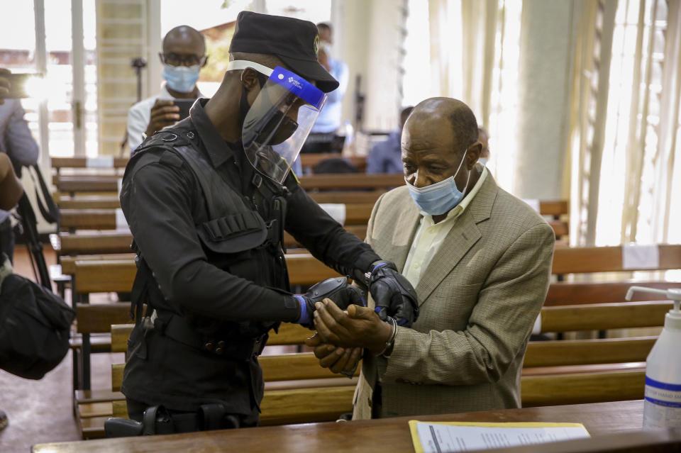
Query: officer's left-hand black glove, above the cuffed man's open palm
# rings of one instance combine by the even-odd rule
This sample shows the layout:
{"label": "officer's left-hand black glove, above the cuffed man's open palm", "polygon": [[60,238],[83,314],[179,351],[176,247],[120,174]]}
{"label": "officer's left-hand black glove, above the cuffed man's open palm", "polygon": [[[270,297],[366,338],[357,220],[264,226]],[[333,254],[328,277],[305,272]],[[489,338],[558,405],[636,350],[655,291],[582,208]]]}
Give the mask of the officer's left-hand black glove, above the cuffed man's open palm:
{"label": "officer's left-hand black glove, above the cuffed man's open palm", "polygon": [[326,298],[330,298],[341,310],[353,304],[367,306],[362,290],[348,284],[348,277],[344,276],[320,281],[310,286],[310,289],[303,295],[294,297],[300,301],[301,305],[300,318],[296,322],[309,329],[314,329],[314,304]]}

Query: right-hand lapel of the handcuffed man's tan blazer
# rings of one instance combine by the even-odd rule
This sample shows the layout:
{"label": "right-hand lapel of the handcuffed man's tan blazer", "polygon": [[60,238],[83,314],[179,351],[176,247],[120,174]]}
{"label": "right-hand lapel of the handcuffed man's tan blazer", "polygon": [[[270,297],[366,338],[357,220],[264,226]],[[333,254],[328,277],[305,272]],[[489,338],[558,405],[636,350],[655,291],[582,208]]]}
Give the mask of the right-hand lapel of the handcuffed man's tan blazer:
{"label": "right-hand lapel of the handcuffed man's tan blazer", "polygon": [[487,173],[482,187],[472,199],[470,205],[463,211],[463,214],[455,221],[452,229],[443,241],[440,250],[431,260],[428,267],[424,269],[419,285],[416,286],[416,293],[419,295],[419,305],[421,305],[434,289],[447,276],[452,269],[460,262],[463,256],[480,240],[482,234],[477,223],[487,220],[492,213],[492,206],[497,198],[498,187],[492,178],[492,174]]}

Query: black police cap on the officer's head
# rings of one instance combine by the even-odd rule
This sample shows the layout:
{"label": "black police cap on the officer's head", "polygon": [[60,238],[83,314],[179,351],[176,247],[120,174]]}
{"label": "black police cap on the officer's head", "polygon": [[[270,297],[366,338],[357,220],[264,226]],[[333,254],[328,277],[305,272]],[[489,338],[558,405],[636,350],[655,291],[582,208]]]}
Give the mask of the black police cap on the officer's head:
{"label": "black police cap on the officer's head", "polygon": [[318,45],[317,27],[310,21],[241,11],[229,52],[277,55],[293,72],[328,93],[338,88],[338,80],[317,61]]}

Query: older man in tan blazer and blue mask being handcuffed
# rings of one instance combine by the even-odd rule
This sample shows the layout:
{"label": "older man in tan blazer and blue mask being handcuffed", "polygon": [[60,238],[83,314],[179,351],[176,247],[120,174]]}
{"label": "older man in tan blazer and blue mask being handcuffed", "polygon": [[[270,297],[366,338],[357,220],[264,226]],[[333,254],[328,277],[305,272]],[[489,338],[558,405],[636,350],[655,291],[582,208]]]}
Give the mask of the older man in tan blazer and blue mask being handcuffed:
{"label": "older man in tan blazer and blue mask being handcuffed", "polygon": [[384,194],[369,221],[367,242],[416,288],[412,328],[391,328],[371,308],[317,304],[319,335],[308,344],[323,366],[351,370],[365,348],[354,418],[521,406],[554,236],[476,163],[477,138],[463,102],[421,102],[402,133],[406,184]]}

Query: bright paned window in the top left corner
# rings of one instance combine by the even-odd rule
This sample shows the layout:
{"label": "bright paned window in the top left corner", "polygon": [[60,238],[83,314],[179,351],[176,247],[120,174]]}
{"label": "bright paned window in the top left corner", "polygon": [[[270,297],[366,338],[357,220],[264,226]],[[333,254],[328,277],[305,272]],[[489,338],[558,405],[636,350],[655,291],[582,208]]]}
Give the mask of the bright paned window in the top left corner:
{"label": "bright paned window in the top left corner", "polygon": [[[72,2],[71,0],[19,1],[9,10],[4,26],[0,28],[0,64],[12,72],[38,72],[44,65],[44,90],[38,96],[23,99],[26,121],[35,139],[40,143],[43,156],[97,155],[96,118],[96,66],[94,59],[94,0],[84,0],[83,9],[76,11],[84,16],[84,44],[72,48]],[[34,5],[38,11],[39,27],[44,25],[45,34],[38,34]],[[44,8],[44,9],[43,9]],[[74,10],[75,11],[75,10]],[[40,52],[44,45],[45,53]],[[87,49],[87,50],[86,50]],[[84,65],[74,67],[78,55]],[[44,62],[41,61],[44,57]],[[84,86],[77,86],[80,104],[74,99],[74,69],[84,71]],[[79,111],[74,118],[74,110]],[[74,130],[84,130],[82,149],[75,150]]]}

